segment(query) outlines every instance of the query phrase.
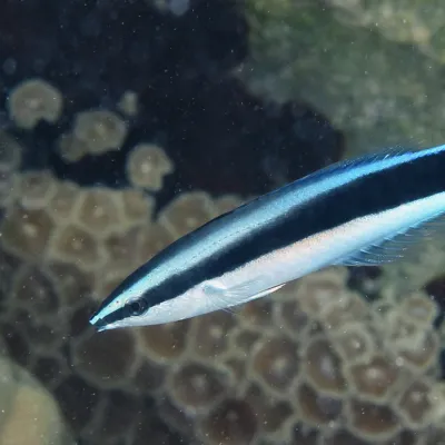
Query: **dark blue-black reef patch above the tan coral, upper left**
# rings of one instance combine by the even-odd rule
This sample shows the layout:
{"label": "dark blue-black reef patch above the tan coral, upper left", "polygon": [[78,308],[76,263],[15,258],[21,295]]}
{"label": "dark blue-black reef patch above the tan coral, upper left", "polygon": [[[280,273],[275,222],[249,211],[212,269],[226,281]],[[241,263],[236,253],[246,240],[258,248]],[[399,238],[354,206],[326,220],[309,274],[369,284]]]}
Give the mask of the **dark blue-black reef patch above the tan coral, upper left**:
{"label": "dark blue-black reef patch above the tan coral, upper left", "polygon": [[[167,202],[180,189],[257,195],[340,158],[343,135],[316,108],[263,100],[231,76],[248,46],[238,2],[199,0],[182,14],[169,12],[178,1],[38,3],[7,2],[0,36],[6,106],[29,82],[63,98],[56,122],[42,116],[48,93],[21,110],[39,122],[14,129],[33,147],[28,167],[123,186],[135,146],[160,146],[181,166]],[[237,161],[221,168],[227,159]]]}

